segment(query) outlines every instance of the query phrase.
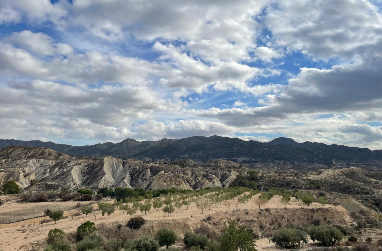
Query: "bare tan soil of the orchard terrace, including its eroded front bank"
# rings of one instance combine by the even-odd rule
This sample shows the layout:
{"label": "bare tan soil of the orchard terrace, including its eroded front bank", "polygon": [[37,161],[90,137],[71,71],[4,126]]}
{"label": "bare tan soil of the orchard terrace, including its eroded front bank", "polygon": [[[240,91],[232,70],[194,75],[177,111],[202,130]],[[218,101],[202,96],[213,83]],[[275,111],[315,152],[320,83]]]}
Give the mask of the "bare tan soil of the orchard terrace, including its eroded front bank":
{"label": "bare tan soil of the orchard terrace, including its eroded front bank", "polygon": [[[111,202],[112,201],[110,201],[110,203]],[[57,207],[62,207],[63,205],[66,206],[74,204],[75,202],[54,203],[57,204]],[[11,203],[7,202],[0,208],[2,214],[9,214],[10,212],[13,212],[16,207],[17,211],[21,212],[23,210],[30,211],[31,207],[38,206],[44,208],[48,205],[42,203],[8,204]],[[94,204],[93,206],[97,207],[97,204]],[[126,233],[129,231],[125,225],[130,216],[122,213],[122,211],[116,210],[116,212],[110,215],[109,218],[107,218],[107,215],[97,215],[95,224],[106,238],[115,238],[115,236],[113,236],[115,235],[114,227],[118,224],[123,225],[123,228],[120,231],[125,231]],[[68,212],[66,212],[65,215],[69,216]],[[180,236],[183,235],[186,230],[194,230],[202,224],[207,224],[211,228],[218,230],[223,227],[224,222],[230,222],[232,220],[236,220],[240,224],[246,224],[254,228],[254,230],[257,230],[260,224],[265,224],[269,227],[276,223],[282,224],[283,226],[293,225],[294,223],[297,225],[298,222],[295,222],[297,220],[303,223],[308,223],[313,218],[312,215],[315,215],[315,218],[319,217],[341,225],[354,223],[349,217],[349,213],[341,206],[326,204],[324,208],[322,208],[322,205],[313,203],[308,209],[306,205],[301,203],[301,201],[298,202],[295,198],[291,198],[290,203],[286,206],[286,209],[284,209],[284,205],[280,203],[280,197],[278,196],[273,197],[261,209],[259,209],[258,205],[254,204],[253,200],[249,200],[249,202],[241,206],[238,204],[237,209],[236,205],[232,204],[230,211],[228,211],[228,207],[222,202],[222,205],[218,204],[217,207],[215,207],[215,204],[211,205],[210,210],[207,208],[204,210],[204,214],[201,214],[201,210],[197,209],[194,204],[191,203],[188,209],[186,209],[185,206],[180,209],[180,212],[176,209],[170,216],[164,216],[160,209],[158,212],[155,209],[152,209],[151,212],[147,212],[147,215],[145,215],[144,212],[138,212],[134,216],[139,215],[144,217],[147,220],[147,223],[141,230],[135,230],[137,235],[152,234],[157,228],[166,225],[169,228],[173,228],[176,233],[178,233],[178,236]],[[206,220],[208,215],[212,216],[212,220]],[[43,246],[49,230],[60,228],[66,233],[70,233],[76,231],[76,228],[81,223],[86,222],[87,220],[95,220],[94,216],[90,214],[87,215],[87,217],[85,215],[74,217],[73,220],[71,220],[71,217],[64,218],[59,220],[57,224],[49,222],[41,225],[40,221],[44,218],[48,217],[39,217],[0,225],[0,250],[28,251],[33,248],[39,250]],[[107,233],[109,233],[110,236],[106,236]],[[267,239],[257,241],[260,251],[272,249],[271,247],[275,248],[273,243],[268,244],[267,242]]]}

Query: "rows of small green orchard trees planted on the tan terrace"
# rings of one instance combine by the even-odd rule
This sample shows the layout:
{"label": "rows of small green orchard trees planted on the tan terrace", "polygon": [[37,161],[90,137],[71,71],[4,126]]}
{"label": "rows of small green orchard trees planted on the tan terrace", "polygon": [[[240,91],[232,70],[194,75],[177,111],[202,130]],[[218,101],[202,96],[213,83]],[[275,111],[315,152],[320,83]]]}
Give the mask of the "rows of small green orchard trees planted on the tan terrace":
{"label": "rows of small green orchard trees planted on the tan terrace", "polygon": [[[184,191],[183,191],[184,192]],[[254,197],[258,190],[253,190],[246,187],[230,187],[228,189],[220,189],[220,187],[214,189],[202,189],[200,191],[187,191],[187,193],[182,193],[180,191],[170,193],[165,195],[164,197],[160,195],[160,197],[152,198],[152,196],[132,196],[125,197],[125,199],[114,200],[113,204],[109,202],[99,202],[98,209],[94,209],[92,205],[86,205],[82,207],[80,210],[70,210],[69,213],[73,217],[79,215],[79,211],[86,216],[88,214],[92,214],[95,217],[95,221],[97,220],[97,215],[102,214],[103,216],[106,214],[109,217],[110,214],[113,214],[115,210],[123,211],[122,214],[130,215],[133,218],[133,215],[138,212],[144,212],[145,215],[147,212],[150,212],[152,209],[157,212],[159,209],[162,209],[164,217],[170,216],[177,209],[180,212],[182,207],[188,207],[190,205],[194,205],[203,214],[205,210],[210,210],[211,207],[217,207],[217,205],[225,205],[228,210],[233,206],[246,204],[249,200],[252,200],[253,203],[258,205],[259,208],[264,206],[267,202],[269,202],[272,197],[278,195],[280,197],[280,202],[286,205],[290,202],[291,196],[294,196],[298,201],[301,200],[303,204],[306,204],[308,207],[312,204],[314,197],[311,194],[300,193],[299,191],[288,191],[285,189],[278,189],[272,187],[268,192],[265,192],[257,197]],[[148,193],[150,195],[150,193]],[[163,199],[162,199],[163,198]],[[326,203],[325,197],[319,197],[317,200],[319,203],[324,205]],[[53,216],[55,215],[55,216]],[[57,221],[60,219],[57,215],[61,215],[62,212],[54,212],[52,213],[52,219]]]}

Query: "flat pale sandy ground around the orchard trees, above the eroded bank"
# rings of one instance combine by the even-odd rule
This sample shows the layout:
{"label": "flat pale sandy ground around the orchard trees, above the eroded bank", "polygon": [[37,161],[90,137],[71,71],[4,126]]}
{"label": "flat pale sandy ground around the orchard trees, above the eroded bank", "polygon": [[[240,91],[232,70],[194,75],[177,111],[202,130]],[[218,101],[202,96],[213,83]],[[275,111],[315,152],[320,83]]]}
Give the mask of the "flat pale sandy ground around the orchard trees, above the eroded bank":
{"label": "flat pale sandy ground around the orchard trees, above the eroded bank", "polygon": [[[273,197],[267,204],[265,204],[262,208],[283,208],[284,205],[280,203],[281,197],[275,196]],[[112,202],[112,201],[110,201]],[[45,202],[50,203],[50,202]],[[52,202],[53,203],[53,202]],[[61,203],[65,203],[65,205],[70,205],[70,203],[74,202],[54,202],[57,204],[57,206],[62,206]],[[34,203],[39,204],[39,203]],[[24,207],[25,210],[30,210],[31,206],[34,206],[33,203],[17,203],[14,206],[17,206],[17,210],[22,210],[20,207]],[[7,205],[5,205],[7,206]],[[45,206],[45,205],[42,205]],[[94,207],[96,207],[97,204],[94,204]],[[291,198],[290,203],[286,206],[288,208],[300,208],[300,207],[306,207],[306,205],[303,205],[300,202],[298,202],[295,198]],[[322,207],[321,204],[313,203],[310,207]],[[334,205],[325,205],[325,208],[329,207],[337,207],[339,210],[345,210],[340,206],[334,206]],[[8,210],[12,209],[12,207],[6,207]],[[14,208],[14,207],[13,207]],[[237,208],[240,209],[248,209],[248,210],[256,210],[259,208],[258,205],[254,204],[253,200],[249,200],[246,204],[243,204],[240,206],[238,204]],[[236,209],[236,205],[232,204],[230,207],[230,210]],[[2,209],[3,213],[6,213],[5,209]],[[180,209],[180,212],[178,212],[178,209],[175,209],[175,212],[173,214],[170,214],[170,216],[165,216],[161,209],[157,212],[155,209],[152,209],[151,212],[147,212],[147,215],[141,212],[138,212],[134,216],[141,215],[146,220],[168,220],[168,219],[178,219],[178,218],[186,218],[193,216],[201,216],[201,215],[209,215],[209,214],[216,214],[220,212],[225,212],[228,210],[228,207],[224,205],[224,202],[222,202],[222,205],[217,205],[215,207],[215,204],[211,205],[210,210],[204,209],[204,214],[201,214],[201,210],[197,209],[193,203],[189,205],[188,209],[186,207],[182,207]],[[110,222],[121,222],[121,221],[127,221],[130,216],[125,214],[122,214],[123,212],[120,210],[116,210],[114,214],[110,215],[109,218],[107,218],[107,215],[102,216],[101,214],[97,215],[97,221],[95,222],[96,225],[100,223],[110,223]],[[66,215],[68,215],[66,213]],[[0,250],[3,251],[16,251],[16,250],[25,250],[20,249],[20,247],[28,244],[28,243],[36,243],[39,241],[44,241],[47,237],[47,234],[49,230],[53,228],[60,228],[65,232],[73,232],[76,231],[76,228],[83,222],[86,222],[87,220],[94,221],[95,218],[93,215],[81,215],[74,217],[73,220],[71,220],[71,217],[65,218],[62,220],[59,220],[57,224],[54,222],[44,223],[42,226],[40,221],[43,218],[48,217],[40,217],[35,218],[31,220],[24,220],[22,222],[17,223],[11,223],[11,224],[2,224],[0,225]],[[197,220],[197,219],[195,219]],[[200,220],[199,220],[200,221]],[[24,227],[22,227],[24,226]],[[275,246],[273,243],[267,243],[267,239],[261,239],[257,242],[257,245],[259,246],[259,250],[269,250],[271,248],[275,249]],[[278,249],[278,248],[277,248]]]}

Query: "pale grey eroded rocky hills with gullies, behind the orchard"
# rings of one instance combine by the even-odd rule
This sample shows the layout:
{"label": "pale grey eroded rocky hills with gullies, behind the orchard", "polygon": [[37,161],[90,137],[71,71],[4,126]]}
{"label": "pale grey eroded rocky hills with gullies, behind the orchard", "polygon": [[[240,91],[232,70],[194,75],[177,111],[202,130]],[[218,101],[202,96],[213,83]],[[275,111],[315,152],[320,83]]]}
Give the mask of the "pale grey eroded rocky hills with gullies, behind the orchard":
{"label": "pale grey eroded rocky hills with gullies, behind the orchard", "polygon": [[[194,163],[191,161],[191,163]],[[225,160],[208,164],[163,165],[121,160],[115,157],[94,158],[66,155],[44,147],[10,146],[0,150],[0,184],[8,179],[32,191],[89,187],[141,187],[153,189],[201,189],[225,187],[246,169]],[[30,186],[36,179],[37,184]]]}

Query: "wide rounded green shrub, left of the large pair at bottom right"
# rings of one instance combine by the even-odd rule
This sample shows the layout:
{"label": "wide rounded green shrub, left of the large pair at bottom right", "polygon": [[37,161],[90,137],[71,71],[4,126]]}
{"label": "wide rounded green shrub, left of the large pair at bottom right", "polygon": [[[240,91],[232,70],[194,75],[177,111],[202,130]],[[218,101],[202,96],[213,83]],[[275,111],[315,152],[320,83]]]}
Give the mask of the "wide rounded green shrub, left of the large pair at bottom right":
{"label": "wide rounded green shrub, left of the large pair at bottom right", "polygon": [[272,232],[272,242],[280,248],[299,248],[308,243],[307,233],[297,228],[283,228]]}

